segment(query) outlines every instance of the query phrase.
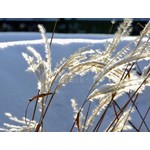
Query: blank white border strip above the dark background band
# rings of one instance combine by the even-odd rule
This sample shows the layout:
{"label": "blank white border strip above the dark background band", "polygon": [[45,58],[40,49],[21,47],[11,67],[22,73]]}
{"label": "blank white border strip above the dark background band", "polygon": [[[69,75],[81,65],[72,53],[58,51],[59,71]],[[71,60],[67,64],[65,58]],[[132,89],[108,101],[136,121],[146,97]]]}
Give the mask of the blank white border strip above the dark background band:
{"label": "blank white border strip above the dark background band", "polygon": [[149,1],[3,0],[0,18],[149,18]]}

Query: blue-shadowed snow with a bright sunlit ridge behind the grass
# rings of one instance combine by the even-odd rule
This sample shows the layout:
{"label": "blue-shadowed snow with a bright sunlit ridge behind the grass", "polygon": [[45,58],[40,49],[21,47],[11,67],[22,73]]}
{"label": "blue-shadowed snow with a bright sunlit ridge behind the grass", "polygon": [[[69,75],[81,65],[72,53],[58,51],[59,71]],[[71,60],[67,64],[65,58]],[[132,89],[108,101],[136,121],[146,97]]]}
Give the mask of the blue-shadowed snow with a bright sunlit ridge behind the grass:
{"label": "blue-shadowed snow with a bright sunlit ridge behind the grass", "polygon": [[[50,34],[47,34],[50,37]],[[104,43],[112,35],[100,34],[55,34],[52,44],[52,67],[63,57],[68,58],[81,47],[90,46],[93,49],[103,49]],[[120,47],[133,40],[134,37],[125,38]],[[37,93],[35,76],[26,72],[27,63],[22,57],[26,52],[26,46],[34,47],[44,57],[44,44],[40,33],[0,33],[0,127],[3,123],[11,123],[4,115],[10,112],[18,118],[24,116],[25,108],[30,97]],[[141,67],[148,62],[141,63]],[[45,118],[46,131],[69,131],[73,123],[73,111],[71,98],[75,98],[79,104],[86,96],[92,80],[91,74],[85,77],[76,77],[71,83],[63,87],[50,106]],[[150,106],[150,92],[147,88],[140,95],[137,106],[144,116]],[[31,109],[29,108],[29,113]],[[107,118],[111,116],[108,113]],[[132,121],[138,127],[141,123],[139,115],[135,111]],[[150,126],[150,113],[146,123]],[[102,129],[105,128],[103,125]],[[142,126],[142,131],[146,131]]]}

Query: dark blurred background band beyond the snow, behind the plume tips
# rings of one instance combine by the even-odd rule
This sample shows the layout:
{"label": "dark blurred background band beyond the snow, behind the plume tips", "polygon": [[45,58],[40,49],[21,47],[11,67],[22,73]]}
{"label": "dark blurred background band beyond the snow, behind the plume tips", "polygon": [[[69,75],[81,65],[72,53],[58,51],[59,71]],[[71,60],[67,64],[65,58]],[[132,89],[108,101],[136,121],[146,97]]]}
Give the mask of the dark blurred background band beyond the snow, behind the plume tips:
{"label": "dark blurred background band beyond the snow, behind the plume tips", "polygon": [[[131,35],[139,35],[149,19],[134,18]],[[38,24],[43,24],[47,32],[52,32],[56,20],[56,33],[113,34],[123,18],[0,18],[0,32],[37,32]]]}

